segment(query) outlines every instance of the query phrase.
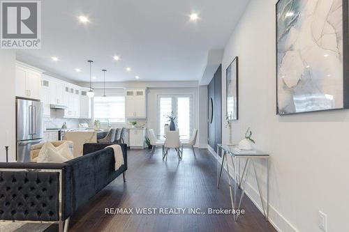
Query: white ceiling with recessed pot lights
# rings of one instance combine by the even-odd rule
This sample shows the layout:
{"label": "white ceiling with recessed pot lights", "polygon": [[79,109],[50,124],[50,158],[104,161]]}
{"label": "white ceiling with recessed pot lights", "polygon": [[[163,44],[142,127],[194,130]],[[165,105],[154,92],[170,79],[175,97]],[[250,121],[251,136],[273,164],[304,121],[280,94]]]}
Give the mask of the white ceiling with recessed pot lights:
{"label": "white ceiling with recessed pot lights", "polygon": [[[18,50],[17,59],[75,82],[92,75],[107,82],[198,80],[211,49],[221,49],[247,0],[45,0],[42,48]],[[188,15],[198,13],[198,22]],[[83,25],[78,15],[91,21]],[[119,55],[120,61],[112,56]],[[59,57],[58,62],[50,59]],[[125,68],[132,68],[126,72]],[[82,72],[75,72],[80,68]]]}

